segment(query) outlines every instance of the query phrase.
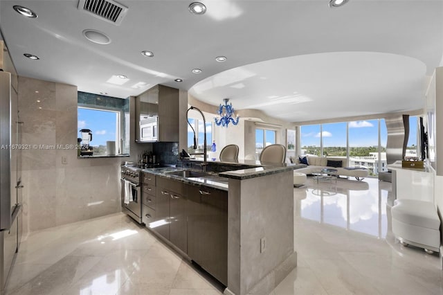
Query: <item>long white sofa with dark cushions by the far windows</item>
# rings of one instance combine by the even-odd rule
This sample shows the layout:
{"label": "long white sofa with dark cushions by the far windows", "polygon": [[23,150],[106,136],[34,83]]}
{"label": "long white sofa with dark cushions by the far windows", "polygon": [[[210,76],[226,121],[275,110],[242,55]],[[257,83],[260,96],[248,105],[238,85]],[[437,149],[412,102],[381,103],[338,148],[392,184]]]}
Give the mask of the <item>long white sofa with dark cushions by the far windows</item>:
{"label": "long white sofa with dark cushions by the far windows", "polygon": [[[301,157],[301,156],[300,156]],[[297,169],[297,172],[305,173],[306,175],[319,172],[323,168],[332,168],[337,170],[337,175],[345,176],[345,177],[355,177],[357,180],[361,180],[365,177],[368,177],[369,170],[363,168],[352,168],[347,167],[347,159],[340,157],[316,157],[316,156],[303,156],[307,157],[308,165],[305,168]],[[335,161],[336,166],[332,167],[327,166],[327,161]],[[341,163],[339,163],[341,161]],[[293,158],[293,163],[300,163],[298,157]],[[331,163],[331,162],[329,162]]]}

